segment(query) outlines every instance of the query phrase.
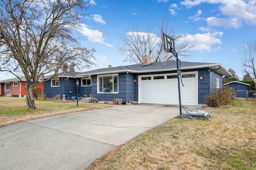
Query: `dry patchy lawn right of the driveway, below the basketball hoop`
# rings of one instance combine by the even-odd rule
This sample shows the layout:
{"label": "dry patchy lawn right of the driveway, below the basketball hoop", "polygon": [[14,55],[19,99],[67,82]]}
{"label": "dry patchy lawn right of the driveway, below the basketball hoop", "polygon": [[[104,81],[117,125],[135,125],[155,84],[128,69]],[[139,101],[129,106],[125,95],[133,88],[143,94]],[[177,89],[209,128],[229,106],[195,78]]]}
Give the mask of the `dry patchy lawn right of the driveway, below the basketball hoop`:
{"label": "dry patchy lawn right of the driveway, below the basketball hoop", "polygon": [[116,147],[87,170],[255,170],[256,102],[204,109],[211,119],[174,118]]}

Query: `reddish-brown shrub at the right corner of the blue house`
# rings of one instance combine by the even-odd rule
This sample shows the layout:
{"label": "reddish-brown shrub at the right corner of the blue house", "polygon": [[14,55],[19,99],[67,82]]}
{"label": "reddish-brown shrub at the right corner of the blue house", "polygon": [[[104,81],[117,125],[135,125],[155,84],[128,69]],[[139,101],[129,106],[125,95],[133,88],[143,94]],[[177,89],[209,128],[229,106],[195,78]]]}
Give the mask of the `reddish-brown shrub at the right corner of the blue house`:
{"label": "reddish-brown shrub at the right corner of the blue house", "polygon": [[221,89],[212,89],[212,93],[206,96],[208,107],[220,107],[226,105],[231,100],[232,90],[227,86]]}

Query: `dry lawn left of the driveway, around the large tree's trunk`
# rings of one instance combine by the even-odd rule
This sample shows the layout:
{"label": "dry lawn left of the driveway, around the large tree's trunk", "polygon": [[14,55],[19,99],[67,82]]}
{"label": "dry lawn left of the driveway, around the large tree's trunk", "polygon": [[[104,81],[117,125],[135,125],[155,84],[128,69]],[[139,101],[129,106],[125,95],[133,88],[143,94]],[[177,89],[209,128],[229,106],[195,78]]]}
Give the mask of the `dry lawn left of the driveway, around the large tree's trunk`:
{"label": "dry lawn left of the driveway, around the large tree's trunk", "polygon": [[109,107],[81,103],[76,106],[76,102],[46,100],[36,100],[35,104],[37,109],[27,109],[26,98],[0,97],[0,127],[42,117]]}

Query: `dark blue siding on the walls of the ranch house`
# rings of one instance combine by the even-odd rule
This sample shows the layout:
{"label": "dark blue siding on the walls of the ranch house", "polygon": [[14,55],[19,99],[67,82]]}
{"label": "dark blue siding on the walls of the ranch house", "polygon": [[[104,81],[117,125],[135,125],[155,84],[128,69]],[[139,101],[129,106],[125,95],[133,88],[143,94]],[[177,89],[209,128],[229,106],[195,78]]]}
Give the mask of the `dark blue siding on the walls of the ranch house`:
{"label": "dark blue siding on the walls of the ranch house", "polygon": [[[182,70],[182,72],[198,72],[198,104],[205,103],[205,97],[211,92],[212,88],[216,88],[216,78],[219,79],[220,87],[223,86],[222,75],[217,74],[216,72],[208,69],[190,69]],[[51,87],[51,81],[44,82],[44,93],[46,97],[53,98],[54,96],[60,94],[61,96],[65,94],[70,96],[68,92],[72,90],[71,96],[76,96],[76,80],[80,82],[78,94],[80,96],[89,96],[92,94],[94,98],[97,98],[99,101],[112,101],[114,98],[121,98],[124,102],[128,101],[138,101],[138,76],[139,75],[150,75],[150,74],[167,74],[167,73],[176,73],[176,71],[168,72],[147,72],[140,74],[133,73],[118,73],[118,93],[98,93],[97,86],[98,80],[97,75],[92,75],[92,86],[81,87],[81,78],[69,78],[64,79],[60,78],[59,87]],[[203,75],[203,79],[200,80],[200,74]],[[133,82],[134,77],[137,82]]]}

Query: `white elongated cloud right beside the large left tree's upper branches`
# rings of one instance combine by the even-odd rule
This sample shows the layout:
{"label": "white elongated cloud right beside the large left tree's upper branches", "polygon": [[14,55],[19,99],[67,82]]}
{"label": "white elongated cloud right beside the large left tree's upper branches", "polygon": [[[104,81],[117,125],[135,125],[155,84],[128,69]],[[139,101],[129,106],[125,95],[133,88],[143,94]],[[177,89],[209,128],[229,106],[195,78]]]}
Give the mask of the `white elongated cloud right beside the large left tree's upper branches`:
{"label": "white elongated cloud right beside the large left tree's upper branches", "polygon": [[82,35],[88,37],[88,40],[91,41],[92,43],[100,43],[100,44],[105,44],[108,47],[112,47],[112,45],[105,42],[105,39],[102,38],[103,33],[100,32],[98,29],[96,30],[89,29],[87,25],[85,25],[84,23],[81,23],[80,32],[82,33]]}

